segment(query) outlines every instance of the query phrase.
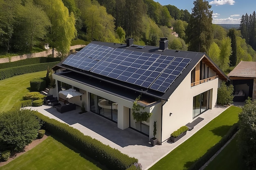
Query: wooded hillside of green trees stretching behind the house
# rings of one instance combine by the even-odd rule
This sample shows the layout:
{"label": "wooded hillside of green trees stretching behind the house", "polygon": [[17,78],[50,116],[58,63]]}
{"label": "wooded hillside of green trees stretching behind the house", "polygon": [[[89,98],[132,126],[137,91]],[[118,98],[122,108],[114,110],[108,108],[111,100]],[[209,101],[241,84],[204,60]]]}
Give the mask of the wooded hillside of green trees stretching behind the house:
{"label": "wooded hillside of green trees stretching behind the house", "polygon": [[[0,0],[0,54],[31,53],[49,43],[60,56],[72,40],[158,46],[204,52],[228,73],[241,60],[256,61],[255,12],[240,28],[212,24],[211,5],[195,0],[192,13],[153,0]],[[173,33],[177,33],[176,37]]]}

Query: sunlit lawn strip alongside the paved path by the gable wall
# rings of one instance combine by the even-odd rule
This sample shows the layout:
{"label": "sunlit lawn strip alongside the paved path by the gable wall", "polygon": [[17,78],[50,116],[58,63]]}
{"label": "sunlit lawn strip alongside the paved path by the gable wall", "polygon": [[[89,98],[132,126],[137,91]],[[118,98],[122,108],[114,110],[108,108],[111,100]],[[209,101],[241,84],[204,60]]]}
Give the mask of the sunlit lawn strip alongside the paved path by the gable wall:
{"label": "sunlit lawn strip alongside the paved path by the gable wall", "polygon": [[195,135],[159,160],[150,170],[186,170],[214,146],[238,121],[241,108],[231,106]]}

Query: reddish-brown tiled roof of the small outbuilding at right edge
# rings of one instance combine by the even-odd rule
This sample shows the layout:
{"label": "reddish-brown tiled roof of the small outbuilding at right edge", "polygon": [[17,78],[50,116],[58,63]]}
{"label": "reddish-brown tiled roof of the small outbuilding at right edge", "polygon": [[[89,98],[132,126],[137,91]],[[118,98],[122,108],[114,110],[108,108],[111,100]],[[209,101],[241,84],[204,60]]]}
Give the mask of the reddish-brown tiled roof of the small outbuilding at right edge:
{"label": "reddish-brown tiled roof of the small outbuilding at right edge", "polygon": [[256,78],[256,62],[240,61],[234,70],[232,70],[227,76]]}

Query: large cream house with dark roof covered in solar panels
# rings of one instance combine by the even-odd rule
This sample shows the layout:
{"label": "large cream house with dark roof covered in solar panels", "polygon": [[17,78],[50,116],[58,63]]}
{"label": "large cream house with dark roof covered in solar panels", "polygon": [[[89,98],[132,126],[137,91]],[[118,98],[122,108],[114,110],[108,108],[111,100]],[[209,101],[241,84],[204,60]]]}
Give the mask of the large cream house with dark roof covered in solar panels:
{"label": "large cream house with dark roof covered in solar panels", "polygon": [[[69,102],[85,102],[86,110],[149,139],[157,121],[159,144],[215,107],[220,82],[229,80],[205,53],[169,50],[167,38],[161,38],[159,47],[135,45],[132,38],[126,44],[91,42],[53,69],[54,96],[69,88],[79,90],[83,95]],[[132,116],[132,104],[140,94],[139,104],[153,113],[142,123]]]}

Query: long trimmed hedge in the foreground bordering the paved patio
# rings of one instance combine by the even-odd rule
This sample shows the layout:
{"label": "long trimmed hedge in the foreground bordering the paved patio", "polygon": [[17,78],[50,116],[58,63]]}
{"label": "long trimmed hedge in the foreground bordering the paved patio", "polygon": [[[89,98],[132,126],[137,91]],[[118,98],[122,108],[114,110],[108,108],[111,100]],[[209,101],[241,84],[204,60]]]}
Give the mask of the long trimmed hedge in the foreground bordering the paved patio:
{"label": "long trimmed hedge in the foreground bordering the paved patio", "polygon": [[131,158],[115,148],[102,144],[97,139],[83,135],[82,132],[67,124],[46,117],[37,111],[34,111],[34,114],[43,121],[43,129],[63,139],[71,146],[74,146],[111,170],[126,170],[138,162],[138,159]]}

